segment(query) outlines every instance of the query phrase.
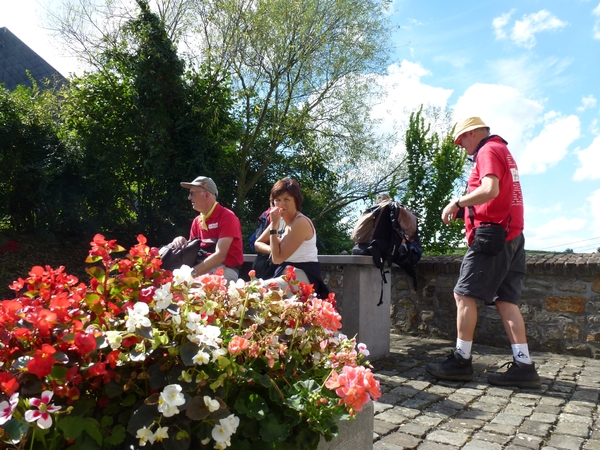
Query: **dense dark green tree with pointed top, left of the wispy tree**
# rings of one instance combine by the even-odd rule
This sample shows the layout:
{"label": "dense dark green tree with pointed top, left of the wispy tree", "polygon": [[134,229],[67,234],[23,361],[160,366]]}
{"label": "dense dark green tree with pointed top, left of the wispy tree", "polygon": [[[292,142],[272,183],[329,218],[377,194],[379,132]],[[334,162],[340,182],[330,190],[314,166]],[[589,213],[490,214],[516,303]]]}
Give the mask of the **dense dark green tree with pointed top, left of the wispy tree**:
{"label": "dense dark green tree with pointed top, left of the wispy tree", "polygon": [[231,103],[225,84],[185,71],[164,25],[137,3],[122,40],[98,55],[102,70],[65,92],[65,140],[81,154],[88,228],[166,240],[188,232],[179,182],[217,165],[233,133]]}

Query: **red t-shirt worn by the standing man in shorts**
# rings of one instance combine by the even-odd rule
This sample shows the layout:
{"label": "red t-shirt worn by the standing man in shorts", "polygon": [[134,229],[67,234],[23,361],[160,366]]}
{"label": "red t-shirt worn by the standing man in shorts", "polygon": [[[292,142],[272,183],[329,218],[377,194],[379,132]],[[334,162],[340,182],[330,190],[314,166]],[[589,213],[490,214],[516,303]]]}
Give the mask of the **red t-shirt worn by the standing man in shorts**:
{"label": "red t-shirt worn by the standing man in shorts", "polygon": [[[474,191],[481,186],[481,180],[486,175],[495,175],[500,182],[500,192],[496,198],[487,203],[473,207],[475,228],[481,222],[500,223],[508,228],[506,240],[510,241],[523,232],[523,192],[519,182],[519,169],[505,141],[499,136],[492,136],[479,149],[475,159],[475,167],[469,176],[468,190]],[[465,213],[465,228],[467,242],[473,242],[475,235],[469,211]]]}

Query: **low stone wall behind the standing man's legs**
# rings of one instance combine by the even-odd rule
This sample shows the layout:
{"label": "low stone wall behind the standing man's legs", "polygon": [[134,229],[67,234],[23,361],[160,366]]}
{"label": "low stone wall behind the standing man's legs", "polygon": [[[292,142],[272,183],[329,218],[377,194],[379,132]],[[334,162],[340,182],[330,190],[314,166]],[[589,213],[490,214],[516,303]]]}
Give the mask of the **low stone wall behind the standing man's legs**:
{"label": "low stone wall behind the standing man's legs", "polygon": [[[452,289],[460,257],[425,257],[419,289],[392,269],[391,320],[398,331],[456,339]],[[479,306],[475,342],[510,346],[495,308]],[[520,304],[531,350],[600,359],[600,254],[528,255]]]}

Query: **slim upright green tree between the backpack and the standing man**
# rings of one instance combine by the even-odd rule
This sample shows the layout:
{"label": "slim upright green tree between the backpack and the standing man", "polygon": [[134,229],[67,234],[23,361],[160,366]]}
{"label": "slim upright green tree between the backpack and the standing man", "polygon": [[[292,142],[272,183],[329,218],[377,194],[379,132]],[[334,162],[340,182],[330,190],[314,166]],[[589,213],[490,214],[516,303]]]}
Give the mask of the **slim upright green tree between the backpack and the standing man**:
{"label": "slim upright green tree between the backpack and the standing man", "polygon": [[[410,115],[406,132],[406,164],[408,181],[402,202],[419,217],[419,235],[423,250],[444,254],[456,248],[463,239],[463,224],[455,221],[449,226],[441,220],[441,211],[452,195],[460,190],[464,175],[466,154],[454,144],[445,120],[445,136],[440,138],[432,131],[423,116],[440,118],[439,110],[423,111],[423,107]],[[442,120],[442,129],[444,121]]]}

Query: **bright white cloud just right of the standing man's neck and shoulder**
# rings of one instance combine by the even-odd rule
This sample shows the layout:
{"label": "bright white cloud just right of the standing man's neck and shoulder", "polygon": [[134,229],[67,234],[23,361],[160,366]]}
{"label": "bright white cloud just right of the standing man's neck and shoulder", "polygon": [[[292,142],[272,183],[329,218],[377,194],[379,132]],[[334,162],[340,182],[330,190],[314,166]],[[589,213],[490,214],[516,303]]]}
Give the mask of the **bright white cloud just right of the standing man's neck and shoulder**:
{"label": "bright white cloud just right of the standing man's neck and shoulder", "polygon": [[534,137],[519,160],[522,174],[544,173],[567,154],[569,145],[580,136],[579,118],[574,115],[562,117],[550,112],[545,116],[542,131]]}

